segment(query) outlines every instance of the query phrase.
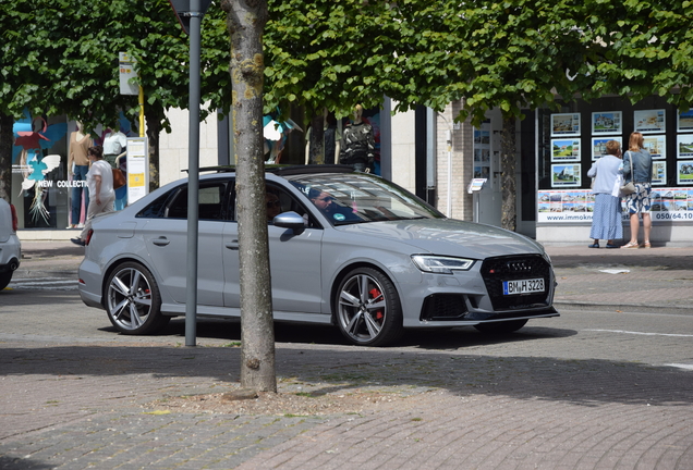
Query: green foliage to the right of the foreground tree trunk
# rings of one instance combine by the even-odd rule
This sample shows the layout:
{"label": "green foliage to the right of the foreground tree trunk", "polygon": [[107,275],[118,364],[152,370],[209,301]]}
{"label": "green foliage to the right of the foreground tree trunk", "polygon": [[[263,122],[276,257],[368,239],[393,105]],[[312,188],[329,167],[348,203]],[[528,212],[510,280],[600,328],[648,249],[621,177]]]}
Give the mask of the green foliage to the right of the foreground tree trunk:
{"label": "green foliage to the right of the foreground tree trunk", "polygon": [[521,118],[522,108],[557,106],[554,92],[693,103],[690,1],[271,0],[269,9],[267,110],[300,102],[346,114],[384,95],[400,111],[442,110],[465,98],[459,118],[478,123],[495,107]]}

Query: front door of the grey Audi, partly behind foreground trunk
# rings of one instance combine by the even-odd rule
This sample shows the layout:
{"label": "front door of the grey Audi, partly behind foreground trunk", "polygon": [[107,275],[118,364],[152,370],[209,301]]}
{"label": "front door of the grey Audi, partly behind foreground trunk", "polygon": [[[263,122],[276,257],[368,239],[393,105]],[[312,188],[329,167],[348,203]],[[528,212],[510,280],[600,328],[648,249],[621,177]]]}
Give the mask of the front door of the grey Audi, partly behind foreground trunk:
{"label": "front door of the grey Audi, partly behind foreground trunk", "polygon": [[[289,191],[267,184],[268,191],[279,197],[280,212],[308,213]],[[316,225],[316,224],[311,224]],[[321,227],[306,227],[301,234],[275,226],[268,221],[269,265],[275,312],[319,313],[323,305],[323,273],[320,270]],[[224,305],[241,305],[238,223],[226,224],[223,232]]]}

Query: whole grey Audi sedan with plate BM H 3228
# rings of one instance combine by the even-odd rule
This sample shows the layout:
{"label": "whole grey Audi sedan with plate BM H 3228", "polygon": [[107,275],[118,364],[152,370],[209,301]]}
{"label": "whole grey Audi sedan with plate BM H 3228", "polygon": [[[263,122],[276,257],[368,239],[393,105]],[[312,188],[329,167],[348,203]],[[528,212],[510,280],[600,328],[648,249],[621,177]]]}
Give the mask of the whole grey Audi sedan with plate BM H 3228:
{"label": "whole grey Audi sedan with plate BM H 3228", "polygon": [[[235,174],[199,178],[197,314],[240,317]],[[512,332],[557,317],[543,247],[498,227],[447,219],[401,187],[343,165],[266,173],[276,321],[336,324],[381,346],[404,329]],[[187,181],[98,217],[80,295],[124,334],[185,314]]]}

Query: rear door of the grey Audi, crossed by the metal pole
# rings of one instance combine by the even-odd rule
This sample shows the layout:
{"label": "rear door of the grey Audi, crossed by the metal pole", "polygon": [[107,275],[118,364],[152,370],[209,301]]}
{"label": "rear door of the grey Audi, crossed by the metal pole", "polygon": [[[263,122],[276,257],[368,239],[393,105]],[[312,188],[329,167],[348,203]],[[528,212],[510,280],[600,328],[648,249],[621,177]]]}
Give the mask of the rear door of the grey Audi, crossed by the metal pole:
{"label": "rear door of the grey Audi, crossed by the metal pole", "polygon": [[[221,242],[224,226],[222,208],[228,183],[199,183],[199,231],[197,255],[197,304],[223,306],[223,264]],[[187,284],[187,189],[183,186],[163,211],[142,231],[161,288],[177,302],[186,300]]]}

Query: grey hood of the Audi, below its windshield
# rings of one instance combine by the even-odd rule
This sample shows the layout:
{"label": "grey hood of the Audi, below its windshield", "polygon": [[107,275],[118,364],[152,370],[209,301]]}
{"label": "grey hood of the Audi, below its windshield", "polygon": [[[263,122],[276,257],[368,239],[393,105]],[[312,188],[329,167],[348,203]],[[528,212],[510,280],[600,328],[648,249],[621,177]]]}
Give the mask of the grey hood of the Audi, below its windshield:
{"label": "grey hood of the Audi, below its windshield", "polygon": [[543,253],[538,243],[503,228],[454,219],[417,219],[344,225],[340,231],[402,243],[414,251],[485,259],[488,257]]}

